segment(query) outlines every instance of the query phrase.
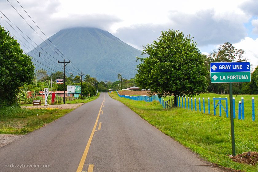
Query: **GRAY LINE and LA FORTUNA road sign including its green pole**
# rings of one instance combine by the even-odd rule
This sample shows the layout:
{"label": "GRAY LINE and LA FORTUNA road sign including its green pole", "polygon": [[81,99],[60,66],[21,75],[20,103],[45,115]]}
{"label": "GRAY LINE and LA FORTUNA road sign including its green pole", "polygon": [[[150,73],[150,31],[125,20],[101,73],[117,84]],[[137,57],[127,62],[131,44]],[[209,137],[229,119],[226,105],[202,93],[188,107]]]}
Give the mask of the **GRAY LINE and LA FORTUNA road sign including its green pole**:
{"label": "GRAY LINE and LA FORTUNA road sign including its green pole", "polygon": [[230,101],[230,124],[232,155],[236,155],[235,132],[233,117],[233,82],[251,82],[251,72],[249,62],[222,62],[210,63],[210,80],[212,83],[229,83]]}

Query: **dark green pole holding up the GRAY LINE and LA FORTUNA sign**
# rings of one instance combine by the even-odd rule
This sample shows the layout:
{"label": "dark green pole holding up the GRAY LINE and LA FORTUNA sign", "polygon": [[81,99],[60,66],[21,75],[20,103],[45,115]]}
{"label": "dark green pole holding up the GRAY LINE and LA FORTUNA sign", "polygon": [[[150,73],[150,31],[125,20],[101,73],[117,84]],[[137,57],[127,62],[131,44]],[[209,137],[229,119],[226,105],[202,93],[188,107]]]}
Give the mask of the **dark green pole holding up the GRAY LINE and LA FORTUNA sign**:
{"label": "dark green pole holding up the GRAY LINE and LA FORTUNA sign", "polygon": [[230,125],[231,125],[232,155],[236,156],[234,116],[233,116],[233,89],[232,89],[232,82],[229,82],[229,101],[230,101]]}

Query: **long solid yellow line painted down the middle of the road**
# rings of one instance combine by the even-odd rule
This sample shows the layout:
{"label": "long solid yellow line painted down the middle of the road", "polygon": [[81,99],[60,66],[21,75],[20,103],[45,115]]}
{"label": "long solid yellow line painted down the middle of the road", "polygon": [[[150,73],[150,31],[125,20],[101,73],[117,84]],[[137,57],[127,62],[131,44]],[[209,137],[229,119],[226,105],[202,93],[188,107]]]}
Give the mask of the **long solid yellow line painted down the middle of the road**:
{"label": "long solid yellow line painted down the middle of the road", "polygon": [[[104,94],[104,95],[105,95],[105,94]],[[97,117],[96,122],[95,122],[95,124],[94,124],[94,127],[93,127],[93,129],[92,129],[91,136],[90,136],[90,138],[89,138],[89,140],[88,140],[88,143],[87,143],[87,145],[86,145],[86,147],[85,147],[85,150],[84,150],[84,152],[83,152],[83,155],[82,155],[82,157],[81,157],[81,160],[80,160],[80,163],[79,163],[79,166],[78,166],[76,172],[81,172],[81,171],[82,171],[84,162],[85,162],[85,160],[86,160],[86,157],[87,157],[87,154],[88,154],[90,145],[91,145],[91,141],[92,141],[94,132],[96,131],[96,127],[97,127],[98,120],[99,120],[99,117],[100,117],[101,107],[102,107],[104,101],[105,101],[105,99],[102,101],[102,104],[101,104],[101,106],[100,106],[100,110],[99,110],[98,117]],[[91,166],[91,165],[90,165],[90,166]],[[90,169],[90,166],[89,166],[89,169]],[[93,165],[91,166],[91,169],[93,170]],[[92,170],[91,170],[91,172],[92,172]],[[89,172],[89,170],[88,170],[88,172]]]}

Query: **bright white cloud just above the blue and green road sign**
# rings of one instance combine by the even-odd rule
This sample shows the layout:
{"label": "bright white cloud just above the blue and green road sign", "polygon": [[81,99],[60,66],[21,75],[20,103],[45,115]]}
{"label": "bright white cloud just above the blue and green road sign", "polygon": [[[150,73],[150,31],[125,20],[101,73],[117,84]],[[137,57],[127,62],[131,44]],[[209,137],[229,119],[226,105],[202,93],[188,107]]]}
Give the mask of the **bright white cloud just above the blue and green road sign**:
{"label": "bright white cloud just above the blue and green road sign", "polygon": [[244,50],[244,57],[248,59],[248,62],[255,68],[258,65],[258,38],[253,40],[250,37],[245,37],[239,43],[233,44],[237,49]]}

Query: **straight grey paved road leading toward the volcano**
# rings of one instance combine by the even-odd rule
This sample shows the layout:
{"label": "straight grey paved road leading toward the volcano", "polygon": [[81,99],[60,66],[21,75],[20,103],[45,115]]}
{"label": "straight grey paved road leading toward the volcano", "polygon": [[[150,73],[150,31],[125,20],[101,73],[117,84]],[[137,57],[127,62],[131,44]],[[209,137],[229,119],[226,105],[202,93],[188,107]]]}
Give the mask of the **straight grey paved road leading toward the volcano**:
{"label": "straight grey paved road leading toward the volcano", "polygon": [[1,172],[221,171],[106,93],[0,148],[0,160]]}

